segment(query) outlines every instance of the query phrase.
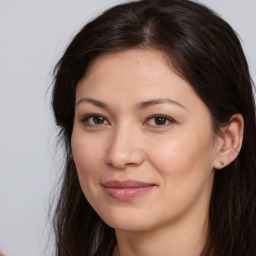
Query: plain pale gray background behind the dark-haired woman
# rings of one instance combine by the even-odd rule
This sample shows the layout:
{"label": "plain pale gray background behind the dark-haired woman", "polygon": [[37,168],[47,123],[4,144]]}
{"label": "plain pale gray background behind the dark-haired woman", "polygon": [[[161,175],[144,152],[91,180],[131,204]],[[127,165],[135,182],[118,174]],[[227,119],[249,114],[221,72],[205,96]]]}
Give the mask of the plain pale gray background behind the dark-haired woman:
{"label": "plain pale gray background behind the dark-haired woman", "polygon": [[[0,0],[0,251],[7,256],[53,255],[48,211],[62,158],[47,92],[51,72],[79,28],[121,2]],[[201,2],[237,31],[255,81],[256,0]]]}

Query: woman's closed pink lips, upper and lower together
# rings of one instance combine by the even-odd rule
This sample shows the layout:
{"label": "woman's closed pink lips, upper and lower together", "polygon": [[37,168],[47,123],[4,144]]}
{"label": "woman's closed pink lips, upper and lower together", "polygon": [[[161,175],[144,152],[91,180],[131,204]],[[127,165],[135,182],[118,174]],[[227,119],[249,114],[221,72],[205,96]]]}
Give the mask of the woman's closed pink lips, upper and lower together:
{"label": "woman's closed pink lips, upper and lower together", "polygon": [[149,191],[154,186],[154,184],[135,180],[111,180],[103,183],[103,187],[105,188],[108,195],[118,200],[129,200],[135,198]]}

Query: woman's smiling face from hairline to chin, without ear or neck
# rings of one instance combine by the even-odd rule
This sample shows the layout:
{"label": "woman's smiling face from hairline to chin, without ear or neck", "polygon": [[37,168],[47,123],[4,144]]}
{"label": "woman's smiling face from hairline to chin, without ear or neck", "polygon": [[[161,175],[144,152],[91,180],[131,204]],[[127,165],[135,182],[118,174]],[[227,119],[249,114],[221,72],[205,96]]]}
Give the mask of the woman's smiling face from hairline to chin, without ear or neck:
{"label": "woman's smiling face from hairline to chin, without ear or neck", "polygon": [[159,52],[102,55],[77,85],[72,151],[79,181],[116,229],[204,221],[217,141],[207,107]]}

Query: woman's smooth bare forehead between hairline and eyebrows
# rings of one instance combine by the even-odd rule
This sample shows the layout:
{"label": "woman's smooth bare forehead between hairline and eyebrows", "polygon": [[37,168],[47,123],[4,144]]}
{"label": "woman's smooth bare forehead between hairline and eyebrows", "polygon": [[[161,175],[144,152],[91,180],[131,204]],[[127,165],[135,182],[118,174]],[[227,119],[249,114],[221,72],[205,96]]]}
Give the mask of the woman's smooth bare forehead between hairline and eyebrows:
{"label": "woman's smooth bare forehead between hairline and eyebrows", "polygon": [[[159,51],[132,49],[102,54],[87,68],[78,82],[80,97],[134,104],[150,98],[169,97],[194,104],[198,100],[191,85],[177,75],[167,57]],[[125,99],[125,102],[123,101]]]}

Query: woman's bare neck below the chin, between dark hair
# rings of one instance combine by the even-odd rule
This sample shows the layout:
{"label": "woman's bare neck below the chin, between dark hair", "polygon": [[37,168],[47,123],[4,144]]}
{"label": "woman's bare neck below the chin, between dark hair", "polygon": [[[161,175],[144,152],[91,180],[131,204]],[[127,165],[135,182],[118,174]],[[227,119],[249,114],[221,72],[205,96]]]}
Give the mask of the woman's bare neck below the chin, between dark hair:
{"label": "woman's bare neck below the chin, between dark hair", "polygon": [[198,224],[182,222],[145,232],[116,230],[113,256],[199,256],[206,242],[208,222],[204,218]]}

